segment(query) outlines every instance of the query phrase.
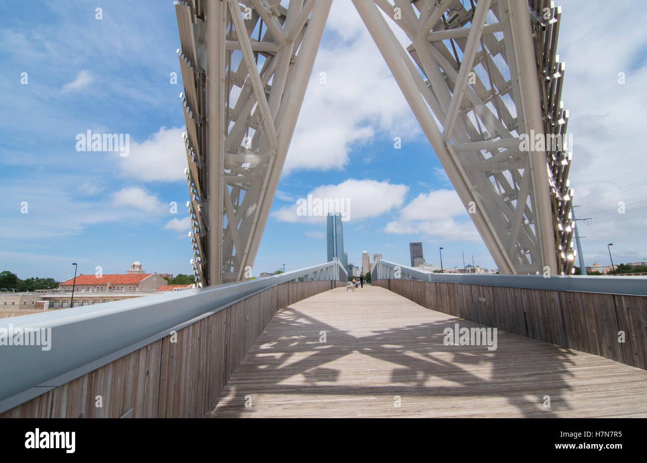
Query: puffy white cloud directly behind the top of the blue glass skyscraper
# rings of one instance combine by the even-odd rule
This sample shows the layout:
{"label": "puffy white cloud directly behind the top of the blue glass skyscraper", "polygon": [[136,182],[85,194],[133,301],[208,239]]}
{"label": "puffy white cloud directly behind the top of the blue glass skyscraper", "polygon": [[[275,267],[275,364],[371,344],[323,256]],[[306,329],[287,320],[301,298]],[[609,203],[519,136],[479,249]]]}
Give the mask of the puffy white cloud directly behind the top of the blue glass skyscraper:
{"label": "puffy white cloud directly behind the top of the blue glass skyscraper", "polygon": [[[391,184],[388,181],[355,180],[349,178],[338,185],[322,185],[309,194],[313,199],[348,200],[347,214],[351,221],[362,221],[378,217],[402,205],[409,190],[406,185]],[[323,222],[325,217],[300,217],[297,204],[283,206],[272,212],[272,217],[281,222]]]}

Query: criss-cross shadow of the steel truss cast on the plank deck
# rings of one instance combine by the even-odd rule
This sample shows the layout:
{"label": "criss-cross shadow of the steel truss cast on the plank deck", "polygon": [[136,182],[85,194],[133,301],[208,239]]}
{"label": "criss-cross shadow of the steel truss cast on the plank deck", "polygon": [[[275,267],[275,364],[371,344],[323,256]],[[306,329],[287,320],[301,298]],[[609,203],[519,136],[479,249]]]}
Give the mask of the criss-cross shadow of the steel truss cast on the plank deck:
{"label": "criss-cross shadow of the steel truss cast on the plank deck", "polygon": [[444,328],[485,325],[431,312],[443,319],[357,336],[294,306],[281,310],[207,416],[551,417],[556,404],[569,409],[572,351],[501,330],[493,351],[444,345]]}

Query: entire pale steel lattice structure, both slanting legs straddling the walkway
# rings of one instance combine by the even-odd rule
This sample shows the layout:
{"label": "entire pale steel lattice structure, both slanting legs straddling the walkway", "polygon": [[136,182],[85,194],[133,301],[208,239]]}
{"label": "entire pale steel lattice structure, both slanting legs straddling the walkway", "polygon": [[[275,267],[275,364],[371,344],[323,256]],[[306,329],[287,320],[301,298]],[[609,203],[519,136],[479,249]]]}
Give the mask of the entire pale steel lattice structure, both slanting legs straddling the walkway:
{"label": "entire pale steel lattice structure, both slanting legs straddling the walkway", "polygon": [[[175,4],[203,285],[240,280],[254,262],[331,1]],[[545,0],[353,3],[501,273],[568,274],[570,147],[521,144],[524,134],[565,135],[559,9]]]}

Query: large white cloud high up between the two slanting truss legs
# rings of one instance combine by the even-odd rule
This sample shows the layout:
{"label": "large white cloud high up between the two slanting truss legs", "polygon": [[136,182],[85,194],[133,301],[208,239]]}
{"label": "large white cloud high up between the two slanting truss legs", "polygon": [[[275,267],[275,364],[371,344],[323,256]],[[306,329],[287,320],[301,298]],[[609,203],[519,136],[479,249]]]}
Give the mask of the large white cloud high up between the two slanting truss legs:
{"label": "large white cloud high up between the two slanting truss legs", "polygon": [[[421,133],[402,92],[350,2],[333,2],[283,173],[343,169],[353,144]],[[325,85],[320,74],[325,72]],[[372,160],[372,156],[366,156]],[[366,161],[368,162],[368,161]]]}

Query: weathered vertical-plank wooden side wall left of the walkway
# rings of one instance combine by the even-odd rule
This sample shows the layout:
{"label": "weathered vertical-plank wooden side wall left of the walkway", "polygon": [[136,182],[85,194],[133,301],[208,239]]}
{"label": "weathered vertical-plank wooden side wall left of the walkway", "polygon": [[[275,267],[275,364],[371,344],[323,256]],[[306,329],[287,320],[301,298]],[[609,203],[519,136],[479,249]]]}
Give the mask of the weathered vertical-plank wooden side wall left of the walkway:
{"label": "weathered vertical-plank wooden side wall left of the walkway", "polygon": [[261,290],[0,418],[201,418],[277,310],[345,285],[305,281]]}

